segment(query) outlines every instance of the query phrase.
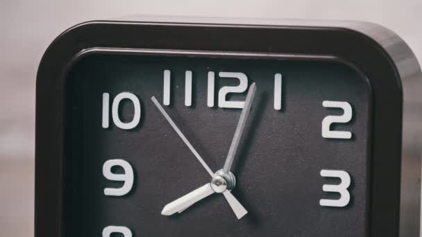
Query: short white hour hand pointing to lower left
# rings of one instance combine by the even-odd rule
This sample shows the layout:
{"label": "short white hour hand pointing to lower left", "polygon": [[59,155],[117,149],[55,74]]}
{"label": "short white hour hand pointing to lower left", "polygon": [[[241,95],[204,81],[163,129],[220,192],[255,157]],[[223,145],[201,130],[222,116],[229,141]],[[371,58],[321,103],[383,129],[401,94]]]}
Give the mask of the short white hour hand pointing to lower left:
{"label": "short white hour hand pointing to lower left", "polygon": [[214,191],[212,190],[211,185],[205,184],[204,186],[201,186],[201,188],[197,188],[183,197],[167,204],[162,209],[161,214],[164,216],[171,216],[176,212],[182,212],[196,202],[208,197],[212,193],[214,193]]}

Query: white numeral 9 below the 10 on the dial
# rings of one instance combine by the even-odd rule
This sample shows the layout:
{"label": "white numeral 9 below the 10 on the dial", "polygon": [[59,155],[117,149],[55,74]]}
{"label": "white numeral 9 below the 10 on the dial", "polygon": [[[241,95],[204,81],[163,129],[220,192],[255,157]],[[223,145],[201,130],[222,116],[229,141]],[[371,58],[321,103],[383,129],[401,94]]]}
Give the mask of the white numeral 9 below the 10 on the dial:
{"label": "white numeral 9 below the 10 on the dial", "polygon": [[[111,172],[113,166],[121,166],[124,174],[115,174]],[[103,165],[103,175],[106,179],[113,181],[123,181],[121,188],[104,188],[104,194],[109,196],[123,196],[130,192],[133,186],[133,169],[132,166],[123,159],[109,159]]]}

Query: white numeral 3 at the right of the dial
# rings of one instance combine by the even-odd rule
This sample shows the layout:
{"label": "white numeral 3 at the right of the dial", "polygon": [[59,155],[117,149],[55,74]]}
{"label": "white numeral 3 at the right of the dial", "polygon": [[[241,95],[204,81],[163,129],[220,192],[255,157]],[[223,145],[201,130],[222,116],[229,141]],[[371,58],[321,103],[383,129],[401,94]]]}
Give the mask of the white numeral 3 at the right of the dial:
{"label": "white numeral 3 at the right of the dial", "polygon": [[348,202],[351,200],[351,194],[347,188],[351,185],[351,176],[342,170],[321,170],[322,177],[337,177],[341,179],[340,184],[324,184],[322,190],[324,192],[339,193],[340,198],[338,200],[321,199],[319,204],[325,207],[346,207]]}

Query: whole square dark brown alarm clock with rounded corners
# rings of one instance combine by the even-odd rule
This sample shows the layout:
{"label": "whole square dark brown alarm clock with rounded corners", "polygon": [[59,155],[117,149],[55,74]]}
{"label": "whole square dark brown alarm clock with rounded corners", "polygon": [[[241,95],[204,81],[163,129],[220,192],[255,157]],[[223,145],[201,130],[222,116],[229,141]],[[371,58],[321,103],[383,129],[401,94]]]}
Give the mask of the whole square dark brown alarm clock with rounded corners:
{"label": "whole square dark brown alarm clock with rounded corners", "polygon": [[375,24],[79,24],[37,73],[35,236],[419,236],[421,88]]}

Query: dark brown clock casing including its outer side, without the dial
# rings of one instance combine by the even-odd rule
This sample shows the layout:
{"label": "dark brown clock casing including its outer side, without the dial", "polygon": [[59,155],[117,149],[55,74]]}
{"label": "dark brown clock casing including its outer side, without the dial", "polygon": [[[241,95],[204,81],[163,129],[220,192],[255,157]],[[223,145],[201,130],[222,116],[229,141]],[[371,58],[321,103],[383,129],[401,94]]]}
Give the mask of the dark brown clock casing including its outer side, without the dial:
{"label": "dark brown clock casing including its outer side, without the dial", "polygon": [[101,53],[338,60],[362,72],[372,89],[368,233],[419,236],[421,134],[406,124],[422,120],[412,107],[421,97],[421,70],[400,37],[352,21],[149,18],[79,24],[44,54],[37,73],[35,236],[63,236],[67,72],[85,55]]}

